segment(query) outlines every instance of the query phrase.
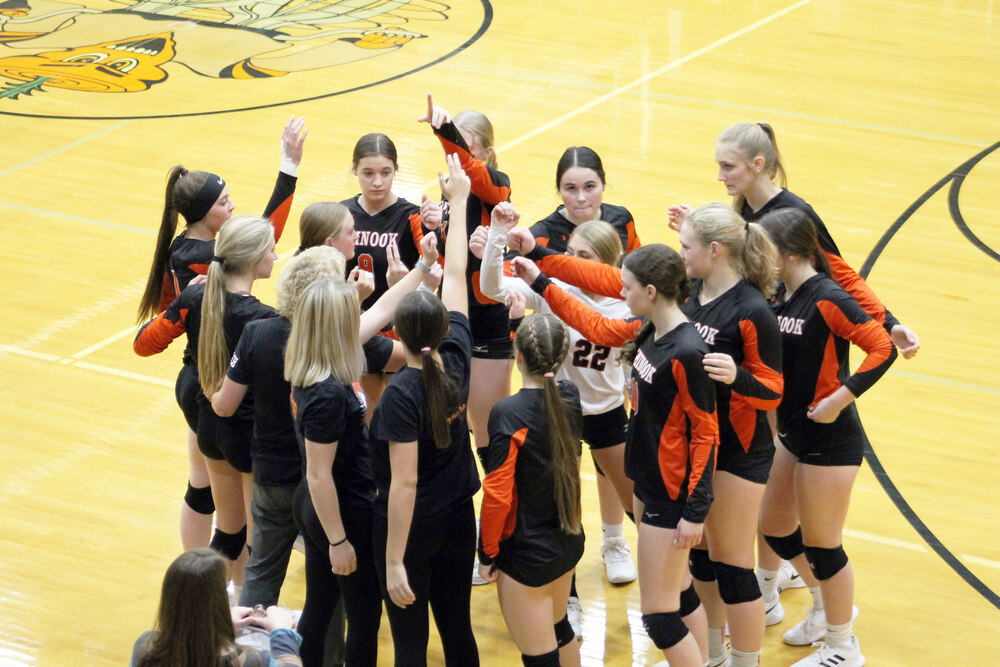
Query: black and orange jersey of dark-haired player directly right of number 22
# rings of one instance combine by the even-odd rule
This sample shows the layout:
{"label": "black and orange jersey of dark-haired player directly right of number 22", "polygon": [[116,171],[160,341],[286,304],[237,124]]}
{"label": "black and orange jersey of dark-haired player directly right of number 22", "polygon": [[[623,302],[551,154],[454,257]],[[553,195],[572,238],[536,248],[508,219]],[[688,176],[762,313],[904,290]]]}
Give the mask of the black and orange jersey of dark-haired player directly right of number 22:
{"label": "black and orange jersey of dark-haired player directly right of number 22", "polygon": [[689,322],[643,341],[632,361],[632,416],[625,473],[636,496],[684,503],[682,518],[702,523],[712,504],[719,448],[715,383],[702,359],[708,345]]}

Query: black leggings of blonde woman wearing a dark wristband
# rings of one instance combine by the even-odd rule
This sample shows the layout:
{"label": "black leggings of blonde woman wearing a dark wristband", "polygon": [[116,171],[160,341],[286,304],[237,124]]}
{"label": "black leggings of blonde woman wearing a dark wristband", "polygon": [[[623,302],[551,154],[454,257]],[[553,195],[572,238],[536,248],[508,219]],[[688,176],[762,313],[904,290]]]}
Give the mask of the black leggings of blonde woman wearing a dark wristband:
{"label": "black leggings of blonde woman wearing a dark wristband", "polygon": [[305,667],[323,664],[327,629],[343,594],[347,615],[346,665],[375,667],[382,596],[371,551],[371,510],[342,508],[344,530],[358,561],[358,569],[346,577],[334,575],[330,568],[330,543],[316,516],[305,480],[296,490],[295,510],[295,521],[306,543],[306,603],[298,626],[302,635],[302,664]]}

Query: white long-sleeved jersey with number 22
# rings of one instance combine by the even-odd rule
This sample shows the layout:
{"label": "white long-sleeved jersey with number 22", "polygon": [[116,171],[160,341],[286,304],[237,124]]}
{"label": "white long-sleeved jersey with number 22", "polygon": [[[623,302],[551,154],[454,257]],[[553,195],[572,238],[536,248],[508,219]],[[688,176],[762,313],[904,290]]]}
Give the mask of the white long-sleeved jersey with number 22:
{"label": "white long-sleeved jersey with number 22", "polygon": [[[503,302],[507,294],[522,294],[528,309],[539,313],[552,313],[541,295],[520,278],[503,275],[503,249],[507,245],[507,231],[490,227],[489,240],[483,254],[479,288],[491,299]],[[605,317],[623,319],[631,317],[628,306],[621,299],[589,296],[575,285],[553,279],[561,288],[588,308]],[[580,390],[580,404],[585,415],[599,415],[625,402],[625,380],[628,369],[618,360],[621,348],[594,345],[579,331],[567,325],[569,349],[559,369],[557,379],[569,380]]]}

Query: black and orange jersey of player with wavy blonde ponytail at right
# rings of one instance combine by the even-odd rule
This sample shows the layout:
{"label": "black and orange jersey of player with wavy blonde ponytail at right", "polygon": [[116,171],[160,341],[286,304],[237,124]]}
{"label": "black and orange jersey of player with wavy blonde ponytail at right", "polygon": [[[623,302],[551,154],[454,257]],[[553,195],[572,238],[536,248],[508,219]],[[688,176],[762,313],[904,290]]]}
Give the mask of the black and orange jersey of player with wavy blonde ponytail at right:
{"label": "black and orange jersey of player with wavy blonde ponytail at right", "polygon": [[740,281],[702,304],[703,283],[694,281],[691,297],[681,306],[712,352],[728,354],[736,363],[736,380],[715,383],[719,437],[739,443],[743,451],[770,449],[767,411],[781,403],[781,334],[764,296]]}

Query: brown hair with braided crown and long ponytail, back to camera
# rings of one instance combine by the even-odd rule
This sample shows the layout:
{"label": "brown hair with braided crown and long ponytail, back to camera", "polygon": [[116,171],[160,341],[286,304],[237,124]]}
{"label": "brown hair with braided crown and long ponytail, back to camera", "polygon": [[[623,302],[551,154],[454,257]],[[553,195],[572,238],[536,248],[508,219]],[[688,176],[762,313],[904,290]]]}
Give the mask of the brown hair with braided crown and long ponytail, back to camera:
{"label": "brown hair with braided crown and long ponytail, back to camera", "polygon": [[569,347],[569,332],[554,315],[529,315],[517,329],[514,345],[524,358],[525,371],[542,376],[545,412],[548,416],[548,441],[552,443],[552,483],[555,490],[559,525],[564,533],[579,535],[580,506],[580,433],[569,419],[569,407],[559,392],[555,373],[562,366]]}

